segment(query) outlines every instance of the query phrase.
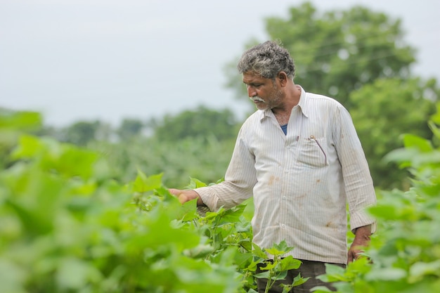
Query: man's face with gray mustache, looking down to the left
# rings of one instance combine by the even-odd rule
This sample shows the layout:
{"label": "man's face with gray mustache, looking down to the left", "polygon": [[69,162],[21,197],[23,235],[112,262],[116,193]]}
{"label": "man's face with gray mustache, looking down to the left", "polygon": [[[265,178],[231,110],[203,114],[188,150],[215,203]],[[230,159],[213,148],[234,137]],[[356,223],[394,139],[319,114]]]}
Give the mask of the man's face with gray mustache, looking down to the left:
{"label": "man's face with gray mustache, looking down to the left", "polygon": [[278,88],[276,80],[261,77],[254,72],[245,72],[243,83],[247,86],[247,95],[259,110],[275,108],[283,99],[283,93]]}

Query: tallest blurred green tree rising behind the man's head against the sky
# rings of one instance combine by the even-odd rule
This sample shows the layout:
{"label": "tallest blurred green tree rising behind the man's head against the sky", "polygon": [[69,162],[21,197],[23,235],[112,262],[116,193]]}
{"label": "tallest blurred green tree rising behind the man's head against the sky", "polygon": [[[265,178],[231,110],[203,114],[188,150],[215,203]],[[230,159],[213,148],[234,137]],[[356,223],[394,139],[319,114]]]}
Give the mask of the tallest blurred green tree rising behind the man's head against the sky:
{"label": "tallest blurred green tree rising behind the man's head against the sky", "polygon": [[[407,79],[415,62],[415,49],[403,40],[401,20],[361,6],[318,13],[306,2],[290,8],[287,19],[267,18],[266,32],[292,54],[297,84],[306,91],[333,96],[348,109],[351,91],[377,78]],[[227,86],[243,96],[235,62],[226,70]]]}

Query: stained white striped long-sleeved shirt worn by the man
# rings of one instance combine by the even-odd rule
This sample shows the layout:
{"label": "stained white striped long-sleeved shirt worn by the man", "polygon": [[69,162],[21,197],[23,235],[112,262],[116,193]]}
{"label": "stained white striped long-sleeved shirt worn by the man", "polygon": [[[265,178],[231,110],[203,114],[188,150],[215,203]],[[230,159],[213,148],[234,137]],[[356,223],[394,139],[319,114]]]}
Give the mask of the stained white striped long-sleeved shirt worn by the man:
{"label": "stained white striped long-sleeved shirt worn by the man", "polygon": [[304,89],[287,135],[271,110],[257,110],[240,129],[225,181],[196,191],[211,210],[253,195],[253,241],[285,240],[297,259],[347,263],[347,202],[351,229],[375,230],[364,211],[375,190],[349,112]]}

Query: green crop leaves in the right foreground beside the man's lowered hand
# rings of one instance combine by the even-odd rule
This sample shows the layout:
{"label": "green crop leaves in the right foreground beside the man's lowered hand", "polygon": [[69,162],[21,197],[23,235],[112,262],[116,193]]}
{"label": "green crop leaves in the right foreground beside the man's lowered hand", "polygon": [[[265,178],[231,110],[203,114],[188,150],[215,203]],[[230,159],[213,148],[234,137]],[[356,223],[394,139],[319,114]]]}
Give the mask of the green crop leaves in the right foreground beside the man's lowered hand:
{"label": "green crop leaves in the right foreground beside the man's lowered hand", "polygon": [[[437,112],[429,121],[433,141],[440,138],[439,122]],[[411,188],[380,193],[377,206],[370,209],[381,225],[365,252],[368,257],[350,263],[347,271],[328,268],[323,276],[336,282],[338,292],[440,290],[440,147],[410,134],[403,141],[405,148],[390,152],[386,159],[408,168]]]}

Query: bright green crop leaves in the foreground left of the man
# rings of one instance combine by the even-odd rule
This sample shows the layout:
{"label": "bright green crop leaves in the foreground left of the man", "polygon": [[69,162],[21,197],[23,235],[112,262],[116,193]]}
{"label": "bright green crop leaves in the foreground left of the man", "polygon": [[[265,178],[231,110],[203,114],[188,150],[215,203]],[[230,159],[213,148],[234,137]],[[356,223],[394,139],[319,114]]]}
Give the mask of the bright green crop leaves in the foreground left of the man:
{"label": "bright green crop leaves in the foreground left of the man", "polygon": [[[120,185],[97,152],[52,138],[21,135],[6,152],[2,291],[255,292],[266,254],[252,250],[245,204],[200,216],[194,201],[182,205],[168,192],[162,174],[138,171]],[[202,185],[193,178],[188,187]],[[283,243],[268,249],[283,251]],[[271,271],[298,265],[278,262]]]}

